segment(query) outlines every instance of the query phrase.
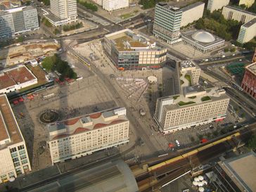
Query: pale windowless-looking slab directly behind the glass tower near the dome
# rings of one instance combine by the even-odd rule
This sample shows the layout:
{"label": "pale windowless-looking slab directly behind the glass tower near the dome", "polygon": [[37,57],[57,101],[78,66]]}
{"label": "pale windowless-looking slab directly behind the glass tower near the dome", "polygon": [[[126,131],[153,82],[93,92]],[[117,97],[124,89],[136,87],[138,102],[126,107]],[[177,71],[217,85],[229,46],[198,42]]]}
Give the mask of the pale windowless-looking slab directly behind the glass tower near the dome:
{"label": "pale windowless-looking slab directly behind the glass tower near the dome", "polygon": [[193,23],[194,21],[203,17],[203,10],[205,8],[205,3],[196,2],[184,8],[181,8],[182,17],[181,17],[181,27]]}

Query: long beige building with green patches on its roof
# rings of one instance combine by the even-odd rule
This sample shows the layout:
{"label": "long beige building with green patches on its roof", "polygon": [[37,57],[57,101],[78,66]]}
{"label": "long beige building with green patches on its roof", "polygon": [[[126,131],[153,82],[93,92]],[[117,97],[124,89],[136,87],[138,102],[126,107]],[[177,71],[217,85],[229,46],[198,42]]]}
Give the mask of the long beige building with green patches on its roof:
{"label": "long beige building with green patches on its roof", "polygon": [[183,87],[183,94],[158,98],[155,120],[160,131],[169,134],[226,117],[229,97],[224,89],[203,89],[199,85]]}

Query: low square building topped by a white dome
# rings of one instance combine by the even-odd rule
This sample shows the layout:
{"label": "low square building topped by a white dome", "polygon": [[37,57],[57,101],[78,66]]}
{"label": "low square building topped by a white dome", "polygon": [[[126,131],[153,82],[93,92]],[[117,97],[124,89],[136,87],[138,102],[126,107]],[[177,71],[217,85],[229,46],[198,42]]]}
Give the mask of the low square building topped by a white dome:
{"label": "low square building topped by a white dome", "polygon": [[203,53],[218,49],[219,47],[224,46],[225,43],[224,39],[203,30],[184,32],[181,34],[181,38],[185,44],[193,46]]}

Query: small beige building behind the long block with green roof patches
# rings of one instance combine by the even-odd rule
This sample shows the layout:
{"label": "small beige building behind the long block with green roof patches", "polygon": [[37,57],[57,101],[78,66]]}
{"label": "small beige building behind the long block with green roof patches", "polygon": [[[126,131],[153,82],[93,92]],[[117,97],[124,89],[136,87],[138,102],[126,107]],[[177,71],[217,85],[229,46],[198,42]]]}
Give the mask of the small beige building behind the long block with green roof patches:
{"label": "small beige building behind the long block with green roof patches", "polygon": [[196,63],[193,63],[191,60],[183,60],[179,63],[179,68],[181,71],[181,79],[190,79],[190,85],[198,84],[201,69]]}

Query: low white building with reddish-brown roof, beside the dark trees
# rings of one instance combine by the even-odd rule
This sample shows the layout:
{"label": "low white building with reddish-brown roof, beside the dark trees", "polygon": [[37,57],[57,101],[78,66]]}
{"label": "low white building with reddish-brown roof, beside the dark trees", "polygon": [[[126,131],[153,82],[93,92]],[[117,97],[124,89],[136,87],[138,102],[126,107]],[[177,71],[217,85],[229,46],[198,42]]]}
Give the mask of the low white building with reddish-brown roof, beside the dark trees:
{"label": "low white building with reddish-brown roof, beside the dark trees", "polygon": [[25,65],[0,71],[0,94],[7,94],[33,84],[37,84],[37,77]]}

